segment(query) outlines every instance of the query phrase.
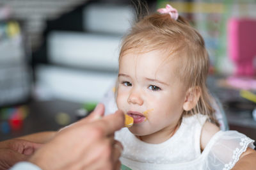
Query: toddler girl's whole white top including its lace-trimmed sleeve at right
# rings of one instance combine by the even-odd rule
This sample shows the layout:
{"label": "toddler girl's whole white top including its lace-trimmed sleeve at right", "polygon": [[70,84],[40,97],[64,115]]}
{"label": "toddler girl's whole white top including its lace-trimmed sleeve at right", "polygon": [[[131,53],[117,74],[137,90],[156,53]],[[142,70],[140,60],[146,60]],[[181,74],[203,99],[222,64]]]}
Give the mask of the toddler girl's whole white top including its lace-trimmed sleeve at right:
{"label": "toddler girl's whole white top including its lace-trimmed sleeve at right", "polygon": [[160,144],[148,144],[135,137],[128,128],[116,132],[124,146],[122,164],[136,169],[231,169],[253,140],[237,131],[219,131],[200,151],[200,134],[207,116],[196,114],[182,118],[177,132]]}

